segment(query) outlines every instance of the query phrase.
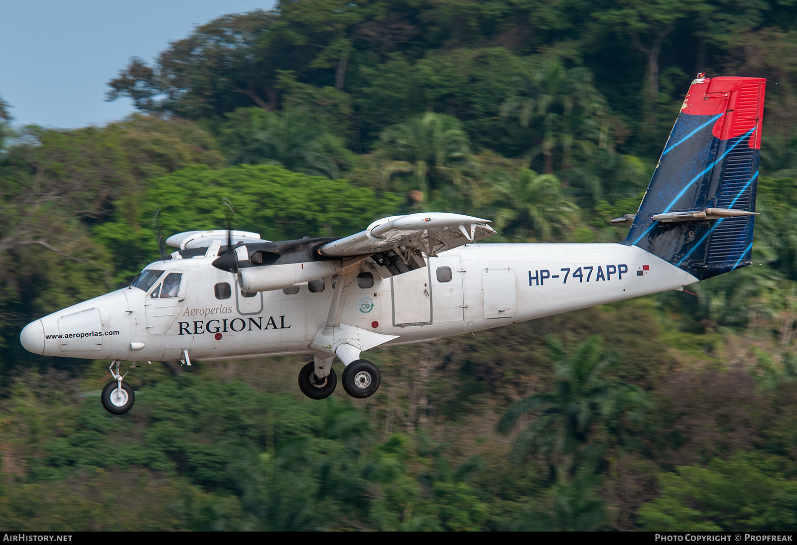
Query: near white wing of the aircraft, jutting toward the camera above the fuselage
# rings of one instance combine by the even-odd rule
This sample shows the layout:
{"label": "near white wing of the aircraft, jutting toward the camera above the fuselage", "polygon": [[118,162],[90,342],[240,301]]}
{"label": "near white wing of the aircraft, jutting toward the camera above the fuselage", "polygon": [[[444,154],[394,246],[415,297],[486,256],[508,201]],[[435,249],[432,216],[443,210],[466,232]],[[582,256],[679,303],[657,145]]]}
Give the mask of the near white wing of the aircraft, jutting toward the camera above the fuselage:
{"label": "near white wing of the aircraft, jutting toward the camera above the fuselage", "polygon": [[340,258],[396,250],[403,254],[420,252],[435,257],[440,252],[495,234],[489,222],[446,212],[391,216],[371,223],[364,231],[321,246],[319,253]]}

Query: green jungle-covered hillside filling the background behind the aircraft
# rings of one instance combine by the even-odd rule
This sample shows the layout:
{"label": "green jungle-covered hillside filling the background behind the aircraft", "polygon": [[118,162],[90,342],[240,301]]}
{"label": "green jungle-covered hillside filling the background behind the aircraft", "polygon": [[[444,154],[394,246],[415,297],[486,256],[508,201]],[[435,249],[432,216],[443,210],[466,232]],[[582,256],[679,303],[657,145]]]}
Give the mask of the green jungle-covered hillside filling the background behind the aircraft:
{"label": "green jungle-covered hillside filling the background behind the aircraft", "polygon": [[[304,398],[303,359],[153,363],[113,417],[107,363],[18,343],[183,230],[620,241],[697,72],[770,80],[755,264],[697,295],[375,349],[356,402]],[[298,0],[133,59],[127,120],[0,99],[0,527],[794,531],[795,76],[794,2]]]}

